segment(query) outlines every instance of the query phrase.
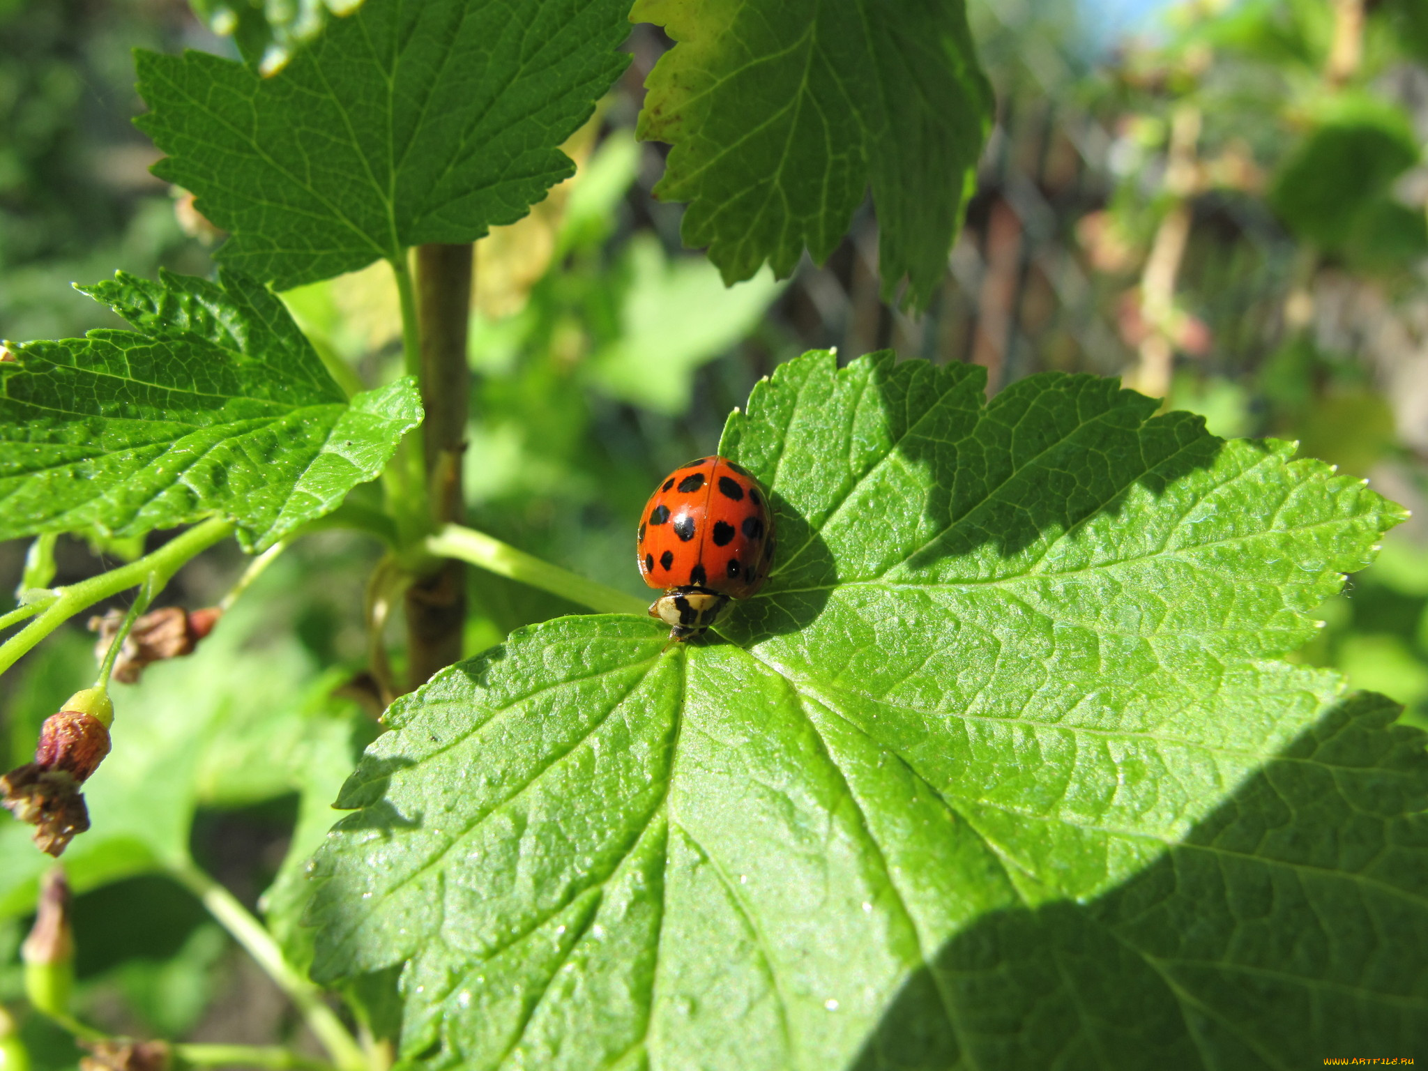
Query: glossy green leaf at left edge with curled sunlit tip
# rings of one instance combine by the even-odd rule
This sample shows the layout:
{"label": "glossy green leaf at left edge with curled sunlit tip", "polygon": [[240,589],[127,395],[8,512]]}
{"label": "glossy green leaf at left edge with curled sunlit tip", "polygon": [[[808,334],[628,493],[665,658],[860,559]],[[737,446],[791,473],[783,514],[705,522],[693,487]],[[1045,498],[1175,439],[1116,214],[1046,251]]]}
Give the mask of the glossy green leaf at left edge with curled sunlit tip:
{"label": "glossy green leaf at left edge with curled sunlit tip", "polygon": [[27,343],[0,366],[0,538],[221,513],[263,550],[377,477],[421,423],[411,378],[348,403],[253,280],[160,280],[86,288],[137,331]]}

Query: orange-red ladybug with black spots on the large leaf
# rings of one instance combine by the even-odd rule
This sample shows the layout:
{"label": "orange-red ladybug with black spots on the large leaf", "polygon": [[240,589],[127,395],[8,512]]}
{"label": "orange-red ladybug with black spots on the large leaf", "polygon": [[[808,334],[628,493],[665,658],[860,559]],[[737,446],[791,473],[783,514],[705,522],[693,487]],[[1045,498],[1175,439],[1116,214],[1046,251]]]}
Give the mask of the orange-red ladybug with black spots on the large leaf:
{"label": "orange-red ladybug with black spots on the large leaf", "polygon": [[768,578],[768,496],[727,457],[683,464],[645,503],[635,553],[644,583],[664,590],[650,617],[670,625],[670,640],[697,637],[731,598],[748,598]]}

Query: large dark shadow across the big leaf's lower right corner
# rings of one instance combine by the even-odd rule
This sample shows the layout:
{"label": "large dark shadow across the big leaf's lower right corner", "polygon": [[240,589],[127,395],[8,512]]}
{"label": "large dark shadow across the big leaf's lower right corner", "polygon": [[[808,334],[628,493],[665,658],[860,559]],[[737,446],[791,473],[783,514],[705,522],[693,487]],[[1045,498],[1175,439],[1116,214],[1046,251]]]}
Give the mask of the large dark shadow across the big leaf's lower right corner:
{"label": "large dark shadow across the big leaf's lower right corner", "polygon": [[1352,695],[1117,888],[977,918],[850,1071],[1298,1068],[1428,1045],[1428,754]]}

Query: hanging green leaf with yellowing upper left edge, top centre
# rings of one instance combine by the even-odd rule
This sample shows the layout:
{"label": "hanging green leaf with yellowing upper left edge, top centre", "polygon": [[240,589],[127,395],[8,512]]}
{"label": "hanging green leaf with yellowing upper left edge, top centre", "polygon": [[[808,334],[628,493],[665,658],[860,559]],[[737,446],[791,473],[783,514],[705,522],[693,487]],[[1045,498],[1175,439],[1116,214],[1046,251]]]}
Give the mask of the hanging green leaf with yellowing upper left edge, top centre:
{"label": "hanging green leaf with yellowing upper left edge, top centre", "polygon": [[804,247],[823,261],[873,187],[890,298],[925,308],[971,196],[992,96],[962,0],[637,0],[677,47],[655,64],[641,139],[668,141],[655,194],[725,283]]}

